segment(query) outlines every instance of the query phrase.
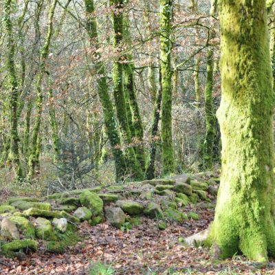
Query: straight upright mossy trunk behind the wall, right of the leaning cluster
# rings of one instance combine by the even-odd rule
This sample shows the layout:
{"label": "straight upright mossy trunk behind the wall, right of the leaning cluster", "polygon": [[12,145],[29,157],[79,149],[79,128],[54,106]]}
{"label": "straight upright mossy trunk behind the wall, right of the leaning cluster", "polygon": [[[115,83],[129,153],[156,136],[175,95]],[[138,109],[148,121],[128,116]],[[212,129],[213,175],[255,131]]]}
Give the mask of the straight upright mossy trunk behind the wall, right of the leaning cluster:
{"label": "straight upright mossy trunk behind the wall, right of the leaning cluster", "polygon": [[172,138],[172,68],[170,29],[172,0],[160,1],[160,58],[162,72],[162,173],[168,175],[175,170]]}

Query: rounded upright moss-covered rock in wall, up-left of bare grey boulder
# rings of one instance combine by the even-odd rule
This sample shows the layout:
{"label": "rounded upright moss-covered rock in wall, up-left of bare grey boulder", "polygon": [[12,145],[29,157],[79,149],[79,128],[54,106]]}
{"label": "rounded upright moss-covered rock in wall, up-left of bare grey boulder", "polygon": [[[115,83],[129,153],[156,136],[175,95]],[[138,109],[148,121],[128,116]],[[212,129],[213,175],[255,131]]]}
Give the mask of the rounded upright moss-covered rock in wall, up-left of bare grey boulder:
{"label": "rounded upright moss-covered rock in wall, up-left of bare grey boulder", "polygon": [[103,201],[100,199],[98,194],[85,190],[80,194],[80,203],[91,210],[93,216],[103,212]]}

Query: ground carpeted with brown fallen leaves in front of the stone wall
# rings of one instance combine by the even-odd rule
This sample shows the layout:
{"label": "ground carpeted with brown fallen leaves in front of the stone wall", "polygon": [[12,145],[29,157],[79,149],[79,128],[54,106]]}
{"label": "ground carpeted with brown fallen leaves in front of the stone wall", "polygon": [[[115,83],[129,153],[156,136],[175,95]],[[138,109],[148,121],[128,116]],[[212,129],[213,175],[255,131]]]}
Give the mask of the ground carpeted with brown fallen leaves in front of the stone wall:
{"label": "ground carpeted with brown fallen leaves in front of the stone wall", "polygon": [[107,223],[94,227],[82,223],[82,241],[65,254],[47,254],[42,246],[21,261],[0,256],[0,274],[89,274],[93,263],[99,262],[111,265],[115,272],[110,274],[275,274],[272,264],[259,266],[241,256],[213,261],[205,248],[184,248],[181,238],[207,228],[214,214],[213,208],[204,209],[199,203],[188,208],[201,219],[170,223],[166,230],[145,217],[124,232]]}

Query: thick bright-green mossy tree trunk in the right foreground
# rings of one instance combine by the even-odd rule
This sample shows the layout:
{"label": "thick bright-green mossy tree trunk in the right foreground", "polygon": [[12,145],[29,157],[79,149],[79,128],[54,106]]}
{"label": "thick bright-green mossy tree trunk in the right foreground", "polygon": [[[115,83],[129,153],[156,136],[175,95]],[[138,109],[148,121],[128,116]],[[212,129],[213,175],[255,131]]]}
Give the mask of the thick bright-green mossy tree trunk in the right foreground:
{"label": "thick bright-green mossy tree trunk in the right foreground", "polygon": [[[265,0],[219,0],[222,168],[209,240],[223,258],[275,256],[274,91]],[[234,26],[234,28],[232,28]]]}

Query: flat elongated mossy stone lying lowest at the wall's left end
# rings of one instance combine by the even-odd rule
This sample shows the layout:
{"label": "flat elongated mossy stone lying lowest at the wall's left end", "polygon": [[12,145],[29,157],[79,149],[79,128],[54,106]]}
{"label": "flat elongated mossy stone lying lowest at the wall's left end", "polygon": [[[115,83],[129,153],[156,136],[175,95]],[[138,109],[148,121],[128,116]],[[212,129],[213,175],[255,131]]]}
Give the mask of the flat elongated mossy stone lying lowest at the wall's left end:
{"label": "flat elongated mossy stone lying lowest at the wall's left end", "polygon": [[38,248],[37,241],[32,239],[15,240],[10,243],[5,243],[1,246],[2,253],[10,255],[12,252],[23,250],[24,252],[36,251]]}

